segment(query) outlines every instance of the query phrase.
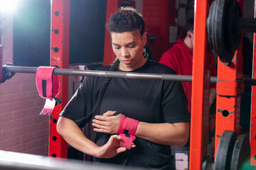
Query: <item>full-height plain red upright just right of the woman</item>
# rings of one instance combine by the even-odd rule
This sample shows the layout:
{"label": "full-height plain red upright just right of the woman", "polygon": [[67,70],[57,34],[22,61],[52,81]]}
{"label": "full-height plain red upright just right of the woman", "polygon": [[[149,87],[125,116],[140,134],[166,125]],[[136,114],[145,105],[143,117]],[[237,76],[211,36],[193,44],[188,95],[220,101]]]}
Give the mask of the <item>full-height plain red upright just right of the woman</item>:
{"label": "full-height plain red upright just right of the woman", "polygon": [[208,7],[209,1],[195,1],[189,169],[201,169],[208,146],[210,110],[210,49],[206,36]]}

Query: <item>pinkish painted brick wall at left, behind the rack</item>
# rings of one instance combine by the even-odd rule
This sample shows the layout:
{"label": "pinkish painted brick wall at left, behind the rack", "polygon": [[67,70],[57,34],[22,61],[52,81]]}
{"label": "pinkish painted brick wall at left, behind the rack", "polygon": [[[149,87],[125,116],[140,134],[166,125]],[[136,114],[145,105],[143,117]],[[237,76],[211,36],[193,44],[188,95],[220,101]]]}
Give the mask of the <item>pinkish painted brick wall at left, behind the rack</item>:
{"label": "pinkish painted brick wall at left, behind the rack", "polygon": [[[12,19],[5,18],[3,64],[13,62]],[[48,156],[48,116],[36,90],[36,74],[17,73],[0,84],[0,149]]]}

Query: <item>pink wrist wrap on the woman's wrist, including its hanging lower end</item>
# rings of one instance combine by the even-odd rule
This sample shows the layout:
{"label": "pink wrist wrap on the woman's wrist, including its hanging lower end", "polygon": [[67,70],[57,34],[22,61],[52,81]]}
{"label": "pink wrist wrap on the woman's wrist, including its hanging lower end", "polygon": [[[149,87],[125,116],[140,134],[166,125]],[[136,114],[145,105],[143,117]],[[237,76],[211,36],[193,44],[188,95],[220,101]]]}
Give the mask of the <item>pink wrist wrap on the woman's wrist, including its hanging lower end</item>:
{"label": "pink wrist wrap on the woman's wrist, including its hanging lower end", "polygon": [[122,115],[122,119],[117,130],[117,133],[121,136],[120,147],[131,149],[132,141],[136,138],[134,134],[137,130],[138,123],[138,120],[127,118],[125,115]]}

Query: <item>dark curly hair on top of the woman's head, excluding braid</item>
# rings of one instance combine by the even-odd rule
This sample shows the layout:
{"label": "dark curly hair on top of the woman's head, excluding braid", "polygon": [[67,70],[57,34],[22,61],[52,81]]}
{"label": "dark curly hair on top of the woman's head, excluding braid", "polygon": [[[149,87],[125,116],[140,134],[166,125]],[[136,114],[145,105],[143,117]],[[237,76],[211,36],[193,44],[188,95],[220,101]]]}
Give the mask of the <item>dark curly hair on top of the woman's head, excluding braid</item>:
{"label": "dark curly hair on top of the woman's head, excluding braid", "polygon": [[140,34],[143,35],[146,32],[142,14],[130,6],[121,7],[117,12],[112,13],[107,23],[107,29],[110,33],[139,30]]}

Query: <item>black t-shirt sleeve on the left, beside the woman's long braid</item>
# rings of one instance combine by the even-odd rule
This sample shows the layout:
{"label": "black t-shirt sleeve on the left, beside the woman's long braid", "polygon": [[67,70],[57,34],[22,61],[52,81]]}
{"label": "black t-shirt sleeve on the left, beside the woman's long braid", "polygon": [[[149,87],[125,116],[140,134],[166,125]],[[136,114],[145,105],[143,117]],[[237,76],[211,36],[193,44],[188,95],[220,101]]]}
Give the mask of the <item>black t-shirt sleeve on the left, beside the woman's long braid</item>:
{"label": "black t-shirt sleeve on the left, beside the woman's long braid", "polygon": [[87,120],[82,120],[92,110],[92,79],[87,77],[68,104],[65,106],[60,116],[73,120],[80,128],[84,127]]}

